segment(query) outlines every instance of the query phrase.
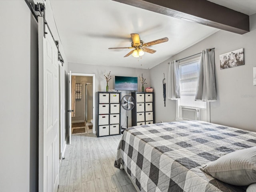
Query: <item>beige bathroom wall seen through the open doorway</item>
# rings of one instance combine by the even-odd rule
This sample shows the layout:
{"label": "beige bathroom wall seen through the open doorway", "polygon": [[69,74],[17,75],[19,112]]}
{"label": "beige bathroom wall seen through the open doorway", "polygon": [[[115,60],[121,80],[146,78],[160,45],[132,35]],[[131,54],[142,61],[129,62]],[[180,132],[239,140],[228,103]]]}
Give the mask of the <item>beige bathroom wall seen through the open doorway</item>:
{"label": "beige bathroom wall seen through the open doorway", "polygon": [[76,116],[71,118],[72,122],[74,122],[74,121],[84,121],[84,116],[85,116],[85,114],[84,114],[84,108],[85,108],[84,84],[85,83],[92,83],[92,77],[76,76],[76,83],[82,84],[82,98],[81,99],[76,99]]}

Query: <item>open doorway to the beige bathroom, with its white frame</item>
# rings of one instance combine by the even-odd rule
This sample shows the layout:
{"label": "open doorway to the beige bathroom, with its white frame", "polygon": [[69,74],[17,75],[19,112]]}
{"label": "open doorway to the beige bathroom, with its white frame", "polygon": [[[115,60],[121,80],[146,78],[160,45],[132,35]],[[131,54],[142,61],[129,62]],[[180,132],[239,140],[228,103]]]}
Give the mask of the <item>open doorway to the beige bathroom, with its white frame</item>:
{"label": "open doorway to the beige bathroom, with its white frame", "polygon": [[[71,74],[71,75],[70,75]],[[95,74],[68,73],[71,134],[95,133]]]}

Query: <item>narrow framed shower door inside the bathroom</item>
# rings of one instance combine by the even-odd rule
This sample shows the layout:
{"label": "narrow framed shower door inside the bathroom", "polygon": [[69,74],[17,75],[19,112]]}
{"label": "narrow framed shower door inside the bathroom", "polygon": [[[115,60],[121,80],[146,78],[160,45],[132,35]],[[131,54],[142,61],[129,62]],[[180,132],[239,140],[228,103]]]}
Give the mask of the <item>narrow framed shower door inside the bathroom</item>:
{"label": "narrow framed shower door inside the bathroom", "polygon": [[85,85],[85,120],[91,122],[92,119],[92,83],[86,83]]}

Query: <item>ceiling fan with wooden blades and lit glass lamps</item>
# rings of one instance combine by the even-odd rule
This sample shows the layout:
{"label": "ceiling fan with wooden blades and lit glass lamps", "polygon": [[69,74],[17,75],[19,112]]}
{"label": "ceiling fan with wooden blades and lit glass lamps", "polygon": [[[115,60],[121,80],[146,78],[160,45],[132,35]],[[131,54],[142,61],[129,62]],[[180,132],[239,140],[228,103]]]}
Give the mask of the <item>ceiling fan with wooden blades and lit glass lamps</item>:
{"label": "ceiling fan with wooden blades and lit glass lamps", "polygon": [[144,52],[151,53],[151,54],[156,52],[156,50],[147,48],[148,46],[164,43],[169,40],[167,37],[164,37],[162,39],[144,43],[142,40],[140,40],[140,36],[137,33],[131,33],[131,37],[132,37],[131,47],[113,47],[108,49],[134,49],[130,51],[128,54],[126,54],[124,57],[127,57],[130,54],[132,54],[132,56],[134,57],[140,57],[144,55]]}

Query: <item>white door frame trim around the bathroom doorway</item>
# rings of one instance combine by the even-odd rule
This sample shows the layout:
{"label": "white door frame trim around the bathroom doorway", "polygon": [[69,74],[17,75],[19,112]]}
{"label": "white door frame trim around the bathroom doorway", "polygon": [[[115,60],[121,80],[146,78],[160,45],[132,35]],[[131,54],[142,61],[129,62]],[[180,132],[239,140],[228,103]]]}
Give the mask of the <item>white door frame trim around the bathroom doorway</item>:
{"label": "white door frame trim around the bathroom doorway", "polygon": [[[92,133],[93,134],[96,134],[96,127],[95,127],[95,102],[96,102],[96,89],[95,89],[95,85],[96,85],[96,82],[95,82],[95,74],[88,74],[88,73],[72,73],[71,72],[71,76],[89,76],[89,77],[92,77],[92,119],[93,119],[93,125],[92,125]],[[71,91],[71,90],[70,90]],[[69,93],[68,93],[69,94]],[[71,126],[70,126],[70,129]]]}

